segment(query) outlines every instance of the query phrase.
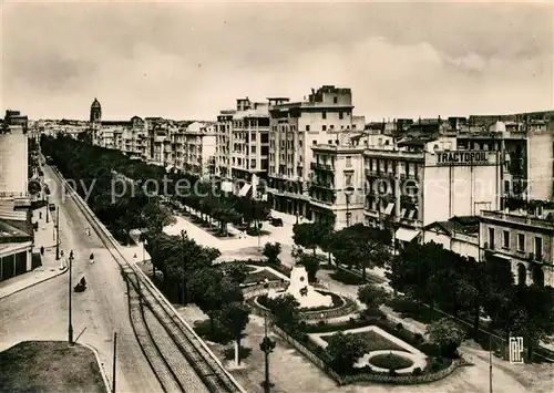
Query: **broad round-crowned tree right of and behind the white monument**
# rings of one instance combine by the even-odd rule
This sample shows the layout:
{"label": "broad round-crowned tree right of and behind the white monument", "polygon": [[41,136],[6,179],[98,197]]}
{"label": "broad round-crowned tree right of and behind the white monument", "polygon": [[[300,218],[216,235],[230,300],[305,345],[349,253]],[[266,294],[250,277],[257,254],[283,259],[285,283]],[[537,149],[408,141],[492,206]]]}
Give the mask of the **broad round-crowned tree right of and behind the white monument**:
{"label": "broad round-crowned tree right of and behind the white monument", "polygon": [[332,255],[337,259],[337,263],[360,268],[362,278],[366,279],[367,268],[383,267],[390,259],[387,246],[388,238],[390,238],[388,230],[356,224],[336,232],[332,241]]}

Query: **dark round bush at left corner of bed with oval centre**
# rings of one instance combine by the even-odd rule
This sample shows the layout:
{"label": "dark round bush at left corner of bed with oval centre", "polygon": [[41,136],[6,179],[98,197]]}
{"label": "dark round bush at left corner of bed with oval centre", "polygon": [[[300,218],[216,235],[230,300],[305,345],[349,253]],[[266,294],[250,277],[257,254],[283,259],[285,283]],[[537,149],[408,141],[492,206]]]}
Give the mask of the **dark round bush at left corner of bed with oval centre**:
{"label": "dark round bush at left corner of bed with oval centre", "polygon": [[331,364],[338,373],[350,371],[355,363],[366,353],[366,341],[359,334],[338,332],[329,338],[326,348]]}

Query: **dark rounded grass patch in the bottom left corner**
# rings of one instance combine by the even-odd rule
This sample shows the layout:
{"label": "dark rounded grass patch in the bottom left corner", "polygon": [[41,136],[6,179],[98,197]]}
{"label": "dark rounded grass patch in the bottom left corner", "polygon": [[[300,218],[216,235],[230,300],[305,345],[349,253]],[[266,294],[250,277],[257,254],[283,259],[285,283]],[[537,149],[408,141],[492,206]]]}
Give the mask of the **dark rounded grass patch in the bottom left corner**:
{"label": "dark rounded grass patch in the bottom left corner", "polygon": [[102,392],[94,353],[62,341],[24,341],[0,353],[0,392]]}

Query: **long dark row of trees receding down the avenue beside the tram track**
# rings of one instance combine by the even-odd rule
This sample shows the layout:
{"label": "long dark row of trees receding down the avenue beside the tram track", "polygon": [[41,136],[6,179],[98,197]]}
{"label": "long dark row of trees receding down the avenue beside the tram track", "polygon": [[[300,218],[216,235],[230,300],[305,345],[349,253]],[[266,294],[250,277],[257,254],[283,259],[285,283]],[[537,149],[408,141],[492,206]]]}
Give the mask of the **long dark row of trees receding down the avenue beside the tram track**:
{"label": "long dark row of trees receding down the avenue beside the tram track", "polygon": [[[120,240],[133,228],[171,223],[171,215],[160,204],[162,193],[167,194],[163,200],[178,201],[201,213],[205,219],[217,221],[222,232],[226,232],[229,223],[250,226],[269,216],[265,201],[220,193],[217,182],[177,170],[167,173],[163,167],[131,159],[120,151],[93,146],[65,135],[42,135],[41,147]],[[117,176],[134,180],[135,186],[115,182]]]}

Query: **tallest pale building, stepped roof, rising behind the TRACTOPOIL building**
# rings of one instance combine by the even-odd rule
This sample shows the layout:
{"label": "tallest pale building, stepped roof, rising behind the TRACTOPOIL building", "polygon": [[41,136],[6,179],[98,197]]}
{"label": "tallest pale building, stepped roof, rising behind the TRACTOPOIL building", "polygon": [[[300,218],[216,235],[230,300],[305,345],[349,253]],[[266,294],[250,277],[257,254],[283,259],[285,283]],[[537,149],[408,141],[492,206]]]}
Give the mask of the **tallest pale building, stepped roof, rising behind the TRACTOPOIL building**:
{"label": "tallest pale building, stepped roof, rising behind the TRACTOPOIL building", "polygon": [[340,145],[365,118],[352,116],[350,89],[312,90],[308,100],[270,99],[268,194],[274,209],[311,218],[309,176],[312,146]]}

